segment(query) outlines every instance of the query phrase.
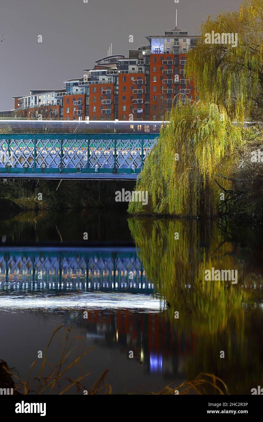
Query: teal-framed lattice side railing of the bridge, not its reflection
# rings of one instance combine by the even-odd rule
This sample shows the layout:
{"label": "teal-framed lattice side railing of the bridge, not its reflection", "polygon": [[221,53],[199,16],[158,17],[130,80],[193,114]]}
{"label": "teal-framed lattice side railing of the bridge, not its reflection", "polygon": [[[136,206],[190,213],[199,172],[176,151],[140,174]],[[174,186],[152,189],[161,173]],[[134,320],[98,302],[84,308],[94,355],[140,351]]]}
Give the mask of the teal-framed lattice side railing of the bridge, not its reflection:
{"label": "teal-framed lattice side railing of the bridge, not its reflection", "polygon": [[139,173],[156,134],[0,134],[0,173]]}

